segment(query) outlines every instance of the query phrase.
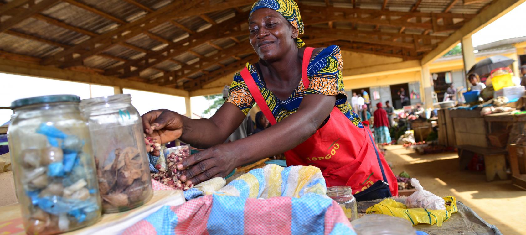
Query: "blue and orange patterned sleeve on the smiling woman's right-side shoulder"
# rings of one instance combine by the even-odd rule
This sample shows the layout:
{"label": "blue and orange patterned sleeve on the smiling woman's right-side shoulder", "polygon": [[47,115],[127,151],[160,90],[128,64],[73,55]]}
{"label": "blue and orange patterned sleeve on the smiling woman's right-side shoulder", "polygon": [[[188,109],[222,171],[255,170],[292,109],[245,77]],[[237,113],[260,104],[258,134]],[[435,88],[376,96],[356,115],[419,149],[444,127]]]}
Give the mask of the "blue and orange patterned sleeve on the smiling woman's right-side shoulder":
{"label": "blue and orange patterned sleeve on the smiling woman's right-side shoulder", "polygon": [[307,94],[336,95],[338,99],[347,97],[342,80],[343,62],[339,46],[329,46],[312,58],[307,74],[309,87]]}

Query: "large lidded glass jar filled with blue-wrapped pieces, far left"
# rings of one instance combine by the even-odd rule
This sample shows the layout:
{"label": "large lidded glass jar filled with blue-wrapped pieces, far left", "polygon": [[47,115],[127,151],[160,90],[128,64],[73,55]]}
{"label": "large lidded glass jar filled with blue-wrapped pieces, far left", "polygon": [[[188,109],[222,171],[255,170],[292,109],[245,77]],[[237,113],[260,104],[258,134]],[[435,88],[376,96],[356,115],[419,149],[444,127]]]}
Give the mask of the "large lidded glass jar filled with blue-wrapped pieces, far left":
{"label": "large lidded glass jar filled with blue-wrapped pieces, far left", "polygon": [[92,144],[76,95],[16,100],[9,150],[28,234],[56,234],[101,214]]}

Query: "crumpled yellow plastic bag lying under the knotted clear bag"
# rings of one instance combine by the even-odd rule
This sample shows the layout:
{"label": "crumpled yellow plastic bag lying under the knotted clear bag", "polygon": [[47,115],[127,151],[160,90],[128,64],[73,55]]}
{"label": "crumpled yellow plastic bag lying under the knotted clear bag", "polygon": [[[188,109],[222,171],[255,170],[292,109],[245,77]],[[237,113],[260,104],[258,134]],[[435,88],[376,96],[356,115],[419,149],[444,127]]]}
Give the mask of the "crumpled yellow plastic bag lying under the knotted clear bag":
{"label": "crumpled yellow plastic bag lying under the knotted clear bag", "polygon": [[406,205],[394,199],[386,199],[380,203],[367,208],[367,214],[387,214],[388,216],[406,219],[414,225],[419,223],[437,224],[442,226],[442,222],[451,218],[452,213],[458,211],[457,199],[455,197],[445,197],[446,210],[427,210],[427,209],[407,209]]}

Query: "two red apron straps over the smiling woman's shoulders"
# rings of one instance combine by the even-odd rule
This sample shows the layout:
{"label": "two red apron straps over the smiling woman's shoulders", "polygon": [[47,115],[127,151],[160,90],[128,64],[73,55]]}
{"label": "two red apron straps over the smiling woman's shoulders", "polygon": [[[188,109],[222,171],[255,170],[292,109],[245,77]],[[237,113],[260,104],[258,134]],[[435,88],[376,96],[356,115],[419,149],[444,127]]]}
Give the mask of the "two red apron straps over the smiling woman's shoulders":
{"label": "two red apron straps over the smiling woman's shoulders", "polygon": [[[309,66],[312,51],[314,51],[314,47],[306,47],[303,53],[303,61],[301,62],[301,81],[303,81],[305,89],[309,88],[309,77],[307,75],[307,68]],[[250,74],[248,68],[243,68],[243,70],[241,70],[240,73],[241,77],[245,81],[245,84],[247,84],[248,91],[250,91],[250,94],[252,94],[252,97],[254,97],[254,101],[256,101],[256,103],[258,104],[259,108],[261,109],[261,112],[263,112],[270,124],[275,125],[277,123],[276,118],[274,118],[272,111],[270,111],[267,102],[265,102],[265,98],[261,94],[261,91],[259,91],[259,87],[256,85],[254,77],[252,77],[252,74]]]}

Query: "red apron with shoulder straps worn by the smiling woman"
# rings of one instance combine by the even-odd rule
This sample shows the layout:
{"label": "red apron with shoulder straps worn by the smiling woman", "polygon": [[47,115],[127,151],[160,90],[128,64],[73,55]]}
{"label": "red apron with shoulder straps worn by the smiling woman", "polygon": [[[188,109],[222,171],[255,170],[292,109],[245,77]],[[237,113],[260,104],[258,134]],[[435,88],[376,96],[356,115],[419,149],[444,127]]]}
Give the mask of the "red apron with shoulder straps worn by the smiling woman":
{"label": "red apron with shoulder straps worn by the smiling woman", "polygon": [[[313,49],[305,48],[303,56],[301,78],[305,89],[309,87],[307,67]],[[241,71],[241,76],[263,114],[272,125],[276,124],[276,118],[247,68]],[[391,194],[398,195],[395,174],[392,173],[383,155],[376,151],[371,136],[368,128],[358,128],[335,106],[325,125],[308,140],[285,152],[287,165],[318,167],[327,187],[347,185],[352,188],[353,194],[387,178]],[[382,175],[382,168],[385,175]]]}

